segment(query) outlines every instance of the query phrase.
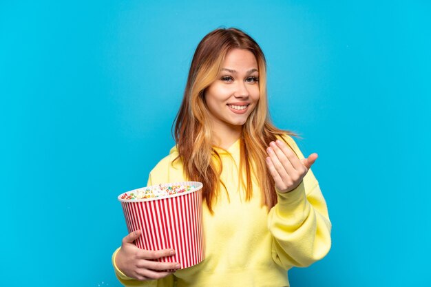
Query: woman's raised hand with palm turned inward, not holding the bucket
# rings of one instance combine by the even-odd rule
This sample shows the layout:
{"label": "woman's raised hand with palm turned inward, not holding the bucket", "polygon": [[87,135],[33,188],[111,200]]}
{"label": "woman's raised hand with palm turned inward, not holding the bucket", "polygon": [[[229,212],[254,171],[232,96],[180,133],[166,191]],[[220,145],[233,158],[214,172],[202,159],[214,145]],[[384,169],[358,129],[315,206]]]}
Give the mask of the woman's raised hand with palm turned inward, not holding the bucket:
{"label": "woman's raised hand with palm turned inward, not holding the bucket", "polygon": [[299,160],[282,140],[270,142],[266,152],[269,155],[266,165],[274,178],[275,187],[282,193],[295,189],[317,159],[317,153],[311,153],[308,158]]}

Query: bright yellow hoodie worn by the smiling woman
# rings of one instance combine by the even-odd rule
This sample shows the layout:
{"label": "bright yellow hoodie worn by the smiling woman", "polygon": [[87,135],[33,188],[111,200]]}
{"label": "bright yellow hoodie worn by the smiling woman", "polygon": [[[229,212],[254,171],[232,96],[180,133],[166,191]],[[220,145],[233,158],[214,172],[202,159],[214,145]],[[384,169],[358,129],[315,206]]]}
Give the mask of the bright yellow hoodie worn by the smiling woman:
{"label": "bright yellow hoodie worn by the smiling woman", "polygon": [[[294,140],[286,137],[299,158],[304,158]],[[286,270],[309,266],[330,249],[330,228],[326,202],[319,184],[309,170],[302,183],[291,192],[278,193],[271,211],[261,206],[260,190],[253,182],[253,198],[245,200],[238,167],[240,140],[227,151],[220,149],[226,184],[213,204],[211,215],[203,205],[205,259],[198,265],[177,270],[164,279],[138,281],[124,275],[112,262],[118,280],[125,286],[217,287],[289,286]],[[176,160],[176,147],[160,160],[149,174],[148,185],[181,182],[182,162]]]}

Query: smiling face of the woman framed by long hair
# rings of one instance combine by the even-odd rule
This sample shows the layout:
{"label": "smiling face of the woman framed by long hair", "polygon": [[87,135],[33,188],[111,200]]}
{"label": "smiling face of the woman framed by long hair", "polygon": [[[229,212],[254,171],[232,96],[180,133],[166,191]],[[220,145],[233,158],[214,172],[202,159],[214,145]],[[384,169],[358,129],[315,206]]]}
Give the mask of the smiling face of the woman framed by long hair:
{"label": "smiling face of the woman framed by long hair", "polygon": [[246,122],[260,97],[259,71],[249,50],[233,49],[218,78],[205,90],[213,128],[238,128]]}

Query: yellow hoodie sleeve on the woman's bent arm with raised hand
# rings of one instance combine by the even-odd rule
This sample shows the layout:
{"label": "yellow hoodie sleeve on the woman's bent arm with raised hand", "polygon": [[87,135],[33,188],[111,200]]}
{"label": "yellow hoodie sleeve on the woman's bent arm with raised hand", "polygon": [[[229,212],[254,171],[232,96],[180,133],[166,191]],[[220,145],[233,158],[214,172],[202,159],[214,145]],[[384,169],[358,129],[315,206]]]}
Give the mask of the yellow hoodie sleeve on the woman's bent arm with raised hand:
{"label": "yellow hoodie sleeve on the woman's bent arm with raised hand", "polygon": [[[304,158],[292,138],[285,138],[299,158]],[[329,251],[331,224],[326,202],[311,169],[296,189],[277,190],[277,204],[269,212],[273,235],[273,260],[286,270],[305,267]]]}

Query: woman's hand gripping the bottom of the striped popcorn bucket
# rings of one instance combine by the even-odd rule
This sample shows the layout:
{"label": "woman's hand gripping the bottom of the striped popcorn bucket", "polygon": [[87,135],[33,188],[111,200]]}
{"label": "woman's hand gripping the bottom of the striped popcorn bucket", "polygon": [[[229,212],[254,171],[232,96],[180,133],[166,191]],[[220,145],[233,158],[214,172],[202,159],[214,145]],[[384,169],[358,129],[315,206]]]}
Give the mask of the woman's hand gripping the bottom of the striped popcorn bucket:
{"label": "woman's hand gripping the bottom of the striped popcorn bucket", "polygon": [[138,280],[160,279],[174,273],[166,270],[176,270],[181,267],[178,263],[154,261],[153,259],[174,255],[174,249],[148,251],[138,248],[133,242],[139,236],[140,231],[134,231],[124,237],[115,257],[116,266],[127,277]]}

